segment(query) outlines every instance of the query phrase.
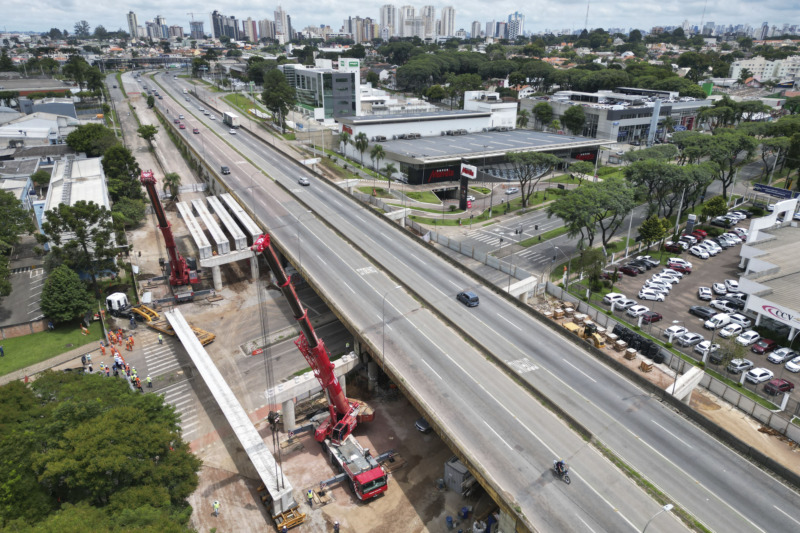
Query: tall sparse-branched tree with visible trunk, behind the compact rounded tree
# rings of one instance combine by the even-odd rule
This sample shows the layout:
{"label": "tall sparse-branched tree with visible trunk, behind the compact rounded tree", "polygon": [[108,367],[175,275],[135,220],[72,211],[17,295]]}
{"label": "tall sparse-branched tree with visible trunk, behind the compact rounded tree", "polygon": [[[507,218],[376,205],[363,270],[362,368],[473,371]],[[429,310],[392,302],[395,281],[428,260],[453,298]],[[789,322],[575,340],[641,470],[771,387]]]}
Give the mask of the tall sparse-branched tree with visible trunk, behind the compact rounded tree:
{"label": "tall sparse-branched tree with visible trunk, behind the compact rounded tree", "polygon": [[116,271],[111,212],[105,206],[78,200],[47,211],[45,218],[44,235],[37,235],[39,242],[51,243],[51,253],[69,257],[68,266],[73,270],[88,272],[95,295],[100,297],[98,274]]}

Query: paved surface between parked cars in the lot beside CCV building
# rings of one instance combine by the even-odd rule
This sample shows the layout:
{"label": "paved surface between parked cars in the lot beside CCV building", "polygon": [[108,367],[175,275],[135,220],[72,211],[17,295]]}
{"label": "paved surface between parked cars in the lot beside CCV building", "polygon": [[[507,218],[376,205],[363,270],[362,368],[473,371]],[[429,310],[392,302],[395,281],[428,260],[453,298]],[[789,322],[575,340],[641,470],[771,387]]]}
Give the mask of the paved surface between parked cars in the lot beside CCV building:
{"label": "paved surface between parked cars in the lot beside CCV building", "polygon": [[[740,227],[744,227],[746,229],[748,223],[744,221],[740,224]],[[655,252],[651,253],[653,259],[661,259],[662,265],[653,267],[651,270],[648,270],[646,273],[640,273],[636,276],[628,276],[623,275],[621,279],[614,285],[613,292],[622,293],[625,295],[626,298],[636,300],[637,304],[644,305],[648,307],[651,311],[655,311],[660,313],[663,318],[654,323],[647,323],[643,322],[641,324],[641,330],[644,333],[651,335],[652,337],[663,340],[666,342],[667,338],[664,334],[664,330],[671,326],[681,326],[685,327],[689,332],[697,333],[703,337],[703,340],[711,341],[714,344],[720,344],[720,350],[724,351],[728,348],[729,343],[735,339],[735,336],[731,339],[722,339],[718,336],[718,330],[710,330],[705,329],[703,327],[703,323],[705,319],[701,319],[695,315],[689,313],[689,308],[691,306],[704,306],[709,307],[708,301],[700,300],[698,297],[698,288],[699,287],[712,287],[714,283],[724,283],[726,279],[738,280],[740,276],[739,271],[739,250],[741,249],[741,245],[732,246],[726,250],[723,250],[716,256],[709,257],[708,259],[701,259],[699,257],[695,257],[690,253],[683,252],[681,254],[675,253],[664,253],[662,255],[658,255]],[[647,254],[648,252],[643,252],[643,254]],[[647,301],[640,301],[638,298],[638,293],[642,288],[644,282],[652,277],[654,274],[660,272],[662,268],[666,265],[667,260],[672,257],[680,257],[686,261],[689,261],[692,264],[692,273],[691,274],[684,274],[683,278],[672,285],[672,289],[669,292],[669,295],[663,302],[647,300]],[[624,264],[624,263],[620,263]],[[713,298],[716,299],[718,295],[714,294]],[[716,311],[721,313],[722,311]],[[741,311],[737,311],[741,313]],[[615,310],[614,315],[631,324],[632,326],[637,325],[638,319],[635,317],[628,316],[625,310]],[[754,316],[749,316],[749,318],[754,319]],[[755,322],[755,320],[753,320]],[[762,325],[765,325],[765,321],[762,320]],[[745,328],[744,331],[747,331],[750,328]],[[689,355],[690,357],[694,358],[695,360],[702,360],[703,356],[701,353],[694,350],[694,346],[680,346],[676,342],[677,337],[673,338],[673,348],[680,350],[682,353]],[[780,336],[779,338],[773,339],[777,342],[778,346],[788,346],[788,341],[785,335]],[[728,348],[729,349],[729,348]],[[746,359],[749,359],[753,362],[753,368],[765,368],[771,371],[774,374],[774,378],[786,379],[792,382],[794,385],[800,384],[800,374],[795,374],[790,372],[786,369],[784,363],[781,364],[774,364],[767,360],[767,354],[756,354],[750,350],[750,347],[740,348],[740,353]],[[706,364],[710,370],[714,370],[719,374],[735,381],[739,381],[741,378],[741,374],[733,374],[729,373],[724,366],[724,364],[714,364],[710,359],[707,359]],[[766,385],[767,381],[764,381],[759,384],[753,384],[748,382],[747,380],[744,381],[744,387],[749,390],[757,391],[759,395],[768,398],[771,401],[780,403],[780,396],[776,399],[775,396],[770,396],[764,393],[764,386]],[[795,412],[798,409],[798,405],[793,400],[790,401],[790,405],[788,406],[789,412]]]}

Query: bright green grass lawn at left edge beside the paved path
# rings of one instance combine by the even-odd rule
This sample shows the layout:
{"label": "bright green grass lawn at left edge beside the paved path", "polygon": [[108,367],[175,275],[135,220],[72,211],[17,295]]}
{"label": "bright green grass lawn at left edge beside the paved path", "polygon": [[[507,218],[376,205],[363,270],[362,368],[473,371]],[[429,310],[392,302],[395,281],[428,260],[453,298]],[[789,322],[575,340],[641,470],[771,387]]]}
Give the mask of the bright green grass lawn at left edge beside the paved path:
{"label": "bright green grass lawn at left edge beside the paved path", "polygon": [[103,334],[100,322],[92,323],[89,327],[89,335],[83,335],[80,327],[73,322],[56,326],[53,331],[4,339],[0,341],[6,354],[5,357],[0,357],[0,376],[85,344],[94,343],[92,348],[96,348],[101,340],[103,340]]}

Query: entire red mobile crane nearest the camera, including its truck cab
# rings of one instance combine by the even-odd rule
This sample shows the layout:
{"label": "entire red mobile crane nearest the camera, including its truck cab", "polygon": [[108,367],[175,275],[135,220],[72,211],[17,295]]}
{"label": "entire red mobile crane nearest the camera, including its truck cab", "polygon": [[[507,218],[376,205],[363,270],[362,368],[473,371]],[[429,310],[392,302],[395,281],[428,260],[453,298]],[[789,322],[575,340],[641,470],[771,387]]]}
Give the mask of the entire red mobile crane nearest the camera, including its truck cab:
{"label": "entire red mobile crane nearest the camera, including its truck cab", "polygon": [[261,253],[275,276],[275,283],[283,292],[300,324],[300,337],[295,344],[308,362],[328,400],[329,416],[316,426],[314,438],[322,443],[332,464],[347,475],[353,491],[360,500],[369,500],[388,488],[386,471],[375,460],[369,449],[363,448],[353,437],[356,424],[369,422],[375,413],[362,402],[349,400],[342,391],[334,373],[334,365],[322,339],[317,337],[314,327],[303,308],[291,280],[278,260],[270,244],[269,235],[261,235],[251,250]]}

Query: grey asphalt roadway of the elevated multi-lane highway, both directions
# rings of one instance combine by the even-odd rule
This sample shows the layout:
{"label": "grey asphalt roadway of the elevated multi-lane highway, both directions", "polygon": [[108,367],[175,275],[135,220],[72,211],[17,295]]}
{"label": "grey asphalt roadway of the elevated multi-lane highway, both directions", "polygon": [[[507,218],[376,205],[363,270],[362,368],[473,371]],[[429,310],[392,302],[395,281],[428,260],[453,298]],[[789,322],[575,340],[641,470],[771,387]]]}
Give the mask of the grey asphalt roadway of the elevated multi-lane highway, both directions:
{"label": "grey asphalt roadway of the elevated multi-lane highway, both directions", "polygon": [[[187,133],[187,140],[200,151],[198,137],[205,138],[206,157],[213,164],[231,166],[232,174],[225,177],[230,187],[252,202],[290,253],[299,256],[299,244],[303,270],[320,291],[378,351],[385,342],[386,365],[427,405],[500,496],[518,505],[536,529],[640,530],[660,505],[541,407],[476,345],[507,362],[519,379],[539,388],[710,529],[800,527],[800,497],[795,491],[263,141],[244,131],[230,135],[219,120],[200,115],[197,108],[205,104],[184,101],[182,81],[167,76],[159,76],[159,81],[177,98],[163,101],[170,113],[191,113],[195,118],[187,118],[190,125],[194,127],[194,121],[204,128],[200,135]],[[307,175],[312,185],[297,185],[300,175]],[[302,216],[308,208],[320,218]],[[419,299],[406,290],[393,290],[398,283]],[[467,309],[455,301],[455,293],[465,288],[481,296],[479,307]],[[468,332],[468,338],[457,330]],[[550,474],[556,456],[572,464],[572,485]],[[674,518],[665,516],[648,531],[678,527]]]}

